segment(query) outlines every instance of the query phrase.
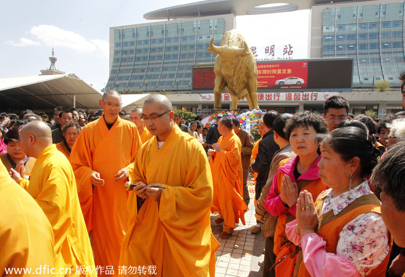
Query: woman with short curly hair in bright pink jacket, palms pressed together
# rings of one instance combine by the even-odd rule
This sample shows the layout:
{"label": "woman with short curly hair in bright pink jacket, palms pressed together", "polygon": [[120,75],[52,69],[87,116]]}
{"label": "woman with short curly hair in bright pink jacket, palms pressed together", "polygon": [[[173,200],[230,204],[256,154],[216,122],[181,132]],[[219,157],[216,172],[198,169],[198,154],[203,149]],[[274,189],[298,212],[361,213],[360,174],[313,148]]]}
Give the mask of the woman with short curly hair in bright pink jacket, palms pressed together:
{"label": "woman with short curly hair in bright pink jacket, palms pressed together", "polygon": [[285,226],[295,218],[299,193],[306,189],[317,195],[326,189],[318,175],[316,136],[328,132],[327,122],[318,114],[299,112],[289,119],[284,131],[297,156],[280,162],[265,202],[266,210],[278,216],[273,248],[277,277],[294,273],[298,247],[287,240]]}

